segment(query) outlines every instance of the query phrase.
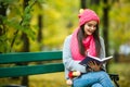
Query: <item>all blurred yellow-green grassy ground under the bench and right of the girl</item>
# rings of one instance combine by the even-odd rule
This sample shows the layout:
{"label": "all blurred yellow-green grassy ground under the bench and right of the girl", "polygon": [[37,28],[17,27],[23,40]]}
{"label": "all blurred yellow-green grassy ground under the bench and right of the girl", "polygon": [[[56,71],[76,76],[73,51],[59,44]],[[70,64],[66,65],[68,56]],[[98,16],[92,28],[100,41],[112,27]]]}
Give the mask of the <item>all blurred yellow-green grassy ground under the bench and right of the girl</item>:
{"label": "all blurred yellow-green grassy ground under the bench and right of the girl", "polygon": [[[110,63],[109,73],[119,75],[120,87],[130,87],[130,64],[129,63]],[[17,79],[0,78],[0,85],[21,84]],[[41,74],[29,76],[29,87],[68,87],[65,84],[64,72]]]}

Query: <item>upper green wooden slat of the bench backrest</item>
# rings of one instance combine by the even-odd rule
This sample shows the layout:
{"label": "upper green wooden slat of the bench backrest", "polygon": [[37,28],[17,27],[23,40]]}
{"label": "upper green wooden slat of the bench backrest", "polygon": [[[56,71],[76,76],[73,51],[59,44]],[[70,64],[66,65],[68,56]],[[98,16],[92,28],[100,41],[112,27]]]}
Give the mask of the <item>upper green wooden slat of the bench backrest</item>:
{"label": "upper green wooden slat of the bench backrest", "polygon": [[5,53],[0,54],[0,64],[61,60],[61,57],[62,51]]}

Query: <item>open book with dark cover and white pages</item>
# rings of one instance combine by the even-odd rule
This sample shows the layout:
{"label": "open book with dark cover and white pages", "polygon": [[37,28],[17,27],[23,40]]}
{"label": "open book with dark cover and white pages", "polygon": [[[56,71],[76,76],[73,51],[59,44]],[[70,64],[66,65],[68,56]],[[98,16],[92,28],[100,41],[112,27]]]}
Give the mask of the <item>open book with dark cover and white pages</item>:
{"label": "open book with dark cover and white pages", "polygon": [[90,62],[90,61],[95,61],[96,64],[101,64],[101,63],[103,64],[112,58],[113,57],[107,57],[107,58],[100,59],[100,58],[96,58],[96,57],[88,55],[81,62],[79,62],[79,64],[86,66],[88,64],[88,62]]}

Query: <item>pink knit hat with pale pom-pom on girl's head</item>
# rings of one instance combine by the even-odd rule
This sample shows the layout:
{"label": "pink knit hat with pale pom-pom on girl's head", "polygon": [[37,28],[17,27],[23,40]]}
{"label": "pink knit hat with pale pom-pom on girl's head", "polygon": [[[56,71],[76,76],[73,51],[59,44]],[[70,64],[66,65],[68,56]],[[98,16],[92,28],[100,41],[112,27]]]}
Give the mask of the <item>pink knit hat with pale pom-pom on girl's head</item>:
{"label": "pink knit hat with pale pom-pom on girl's head", "polygon": [[100,23],[100,18],[98,14],[90,9],[84,9],[84,10],[81,9],[78,17],[79,17],[79,26],[83,25],[89,21],[98,21],[98,23]]}

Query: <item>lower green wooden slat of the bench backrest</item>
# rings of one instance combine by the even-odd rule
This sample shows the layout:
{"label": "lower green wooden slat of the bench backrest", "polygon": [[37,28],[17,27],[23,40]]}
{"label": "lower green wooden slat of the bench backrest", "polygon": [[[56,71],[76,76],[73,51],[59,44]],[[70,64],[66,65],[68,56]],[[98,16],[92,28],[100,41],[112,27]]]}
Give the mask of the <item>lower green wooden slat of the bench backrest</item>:
{"label": "lower green wooden slat of the bench backrest", "polygon": [[0,77],[17,77],[17,76],[55,73],[55,72],[63,72],[63,71],[64,71],[63,63],[30,65],[30,66],[0,67]]}

